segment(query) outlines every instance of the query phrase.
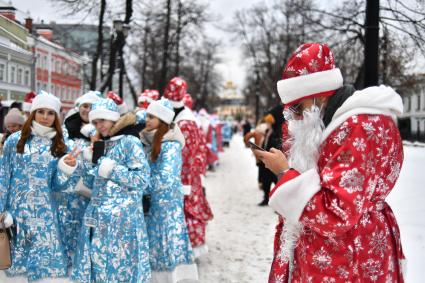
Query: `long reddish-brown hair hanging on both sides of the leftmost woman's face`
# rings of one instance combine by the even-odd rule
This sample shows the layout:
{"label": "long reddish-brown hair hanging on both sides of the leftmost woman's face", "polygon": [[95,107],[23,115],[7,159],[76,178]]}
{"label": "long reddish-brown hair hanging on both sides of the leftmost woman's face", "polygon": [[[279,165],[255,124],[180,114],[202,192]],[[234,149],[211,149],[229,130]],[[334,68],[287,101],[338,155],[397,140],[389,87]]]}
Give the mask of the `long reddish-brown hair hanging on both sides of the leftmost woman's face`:
{"label": "long reddish-brown hair hanging on both sides of the leftmost woman's face", "polygon": [[[28,119],[25,121],[25,124],[22,126],[21,138],[16,145],[17,153],[24,153],[25,143],[27,142],[29,136],[31,135],[31,126],[32,121],[34,121],[36,111],[31,112]],[[54,129],[56,130],[56,135],[53,138],[52,146],[50,147],[50,152],[54,157],[62,157],[66,153],[66,145],[63,138],[63,132],[61,127],[61,122],[58,115],[55,113],[55,121],[53,123]]]}

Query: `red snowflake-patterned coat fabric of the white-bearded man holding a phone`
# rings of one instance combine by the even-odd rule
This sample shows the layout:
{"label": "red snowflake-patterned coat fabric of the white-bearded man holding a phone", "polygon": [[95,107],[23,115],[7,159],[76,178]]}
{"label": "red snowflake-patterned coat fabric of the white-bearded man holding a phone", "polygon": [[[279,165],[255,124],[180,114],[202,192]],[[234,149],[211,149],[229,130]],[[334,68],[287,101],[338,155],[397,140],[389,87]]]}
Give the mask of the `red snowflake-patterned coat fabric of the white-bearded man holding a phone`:
{"label": "red snowflake-patterned coat fabric of the white-bearded man holding a phone", "polygon": [[[326,138],[322,188],[300,217],[290,282],[404,282],[400,231],[385,202],[402,163],[400,134],[388,116],[352,116]],[[269,283],[289,281],[279,238]]]}

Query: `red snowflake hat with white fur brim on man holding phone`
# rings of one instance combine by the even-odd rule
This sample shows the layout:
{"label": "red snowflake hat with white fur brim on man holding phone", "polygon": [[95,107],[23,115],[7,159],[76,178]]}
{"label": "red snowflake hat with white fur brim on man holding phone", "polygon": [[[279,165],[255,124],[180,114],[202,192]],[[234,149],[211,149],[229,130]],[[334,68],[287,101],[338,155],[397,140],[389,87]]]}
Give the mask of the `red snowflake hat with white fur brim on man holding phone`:
{"label": "red snowflake hat with white fur brim on man holding phone", "polygon": [[341,71],[326,44],[305,43],[288,60],[277,91],[282,102],[294,105],[306,98],[330,96],[342,87]]}

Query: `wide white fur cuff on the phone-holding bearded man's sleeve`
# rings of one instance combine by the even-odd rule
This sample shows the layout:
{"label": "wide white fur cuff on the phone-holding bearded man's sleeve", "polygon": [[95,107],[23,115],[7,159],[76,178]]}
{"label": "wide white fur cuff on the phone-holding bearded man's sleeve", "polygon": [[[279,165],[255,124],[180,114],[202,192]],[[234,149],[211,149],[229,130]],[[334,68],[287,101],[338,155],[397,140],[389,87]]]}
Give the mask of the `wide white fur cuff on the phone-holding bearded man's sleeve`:
{"label": "wide white fur cuff on the phone-holding bearded man's sleeve", "polygon": [[289,223],[297,223],[307,202],[320,190],[320,176],[310,169],[279,186],[269,200],[277,213]]}

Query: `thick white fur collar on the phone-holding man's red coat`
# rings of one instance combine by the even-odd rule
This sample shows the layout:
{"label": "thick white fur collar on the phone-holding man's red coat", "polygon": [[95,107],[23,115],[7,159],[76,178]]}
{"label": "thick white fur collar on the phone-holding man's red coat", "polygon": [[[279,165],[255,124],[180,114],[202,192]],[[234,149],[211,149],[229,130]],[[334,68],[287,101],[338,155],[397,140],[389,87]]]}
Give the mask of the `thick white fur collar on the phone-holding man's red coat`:
{"label": "thick white fur collar on the phone-holding man's red coat", "polygon": [[403,101],[398,93],[388,86],[372,86],[353,93],[332,117],[331,123],[323,132],[325,140],[348,118],[359,114],[386,115],[396,120],[403,113]]}

